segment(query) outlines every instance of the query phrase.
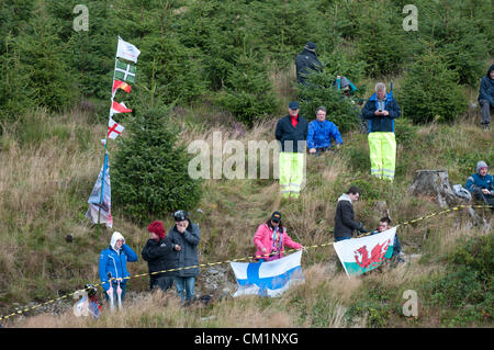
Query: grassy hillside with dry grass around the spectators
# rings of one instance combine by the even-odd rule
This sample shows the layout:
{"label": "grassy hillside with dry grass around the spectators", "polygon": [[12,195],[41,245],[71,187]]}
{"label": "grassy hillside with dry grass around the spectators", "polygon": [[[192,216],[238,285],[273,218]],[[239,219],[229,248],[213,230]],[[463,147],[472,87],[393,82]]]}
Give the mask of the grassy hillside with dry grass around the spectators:
{"label": "grassy hillside with dry grass around the spectators", "polygon": [[[212,143],[213,132],[221,132],[225,140],[240,140],[247,149],[250,139],[273,138],[278,116],[246,129],[227,114],[199,105],[176,109],[170,122],[183,127],[181,136],[186,144],[194,139]],[[289,234],[303,245],[333,241],[336,201],[350,184],[362,189],[356,213],[369,228],[375,227],[381,216],[379,201],[386,202],[394,223],[439,211],[434,199],[412,196],[407,187],[417,169],[447,169],[451,183],[464,183],[479,159],[492,162],[493,132],[480,131],[476,117],[476,112],[472,112],[451,125],[428,126],[414,126],[405,118],[400,120],[396,178],[392,185],[370,177],[367,136],[358,132],[344,135],[344,147],[338,154],[308,158],[307,185],[299,201],[282,201],[278,182],[272,179],[205,181],[199,205],[202,213],[192,214],[193,221],[201,225],[200,262],[252,256],[255,230],[274,210],[283,213]],[[112,233],[103,228],[98,236],[83,217],[87,197],[102,161],[99,138],[104,126],[90,113],[80,111],[50,115],[37,110],[25,118],[22,124],[7,126],[1,137],[2,315],[12,312],[13,303],[45,302],[74,292],[85,283],[99,283],[98,255]],[[114,147],[110,146],[110,155]],[[117,207],[114,214],[114,229],[122,232],[130,246],[141,252],[148,236],[145,227],[125,219]],[[492,213],[484,215],[492,223]],[[166,226],[172,225],[170,217],[157,219],[162,219]],[[71,242],[65,239],[69,234],[74,236]],[[223,300],[186,312],[178,306],[173,293],[165,296],[144,293],[130,303],[123,318],[104,315],[93,323],[72,316],[69,309],[63,316],[43,315],[26,321],[11,321],[15,326],[36,327],[254,327],[259,325],[259,319],[274,313],[279,317],[263,326],[402,327],[492,323],[492,303],[485,300],[485,295],[492,295],[492,270],[484,280],[479,268],[475,273],[451,274],[461,270],[461,266],[468,267],[464,261],[454,260],[461,256],[464,241],[473,245],[468,252],[470,260],[485,258],[482,263],[492,264],[489,261],[493,252],[492,233],[472,226],[467,211],[462,211],[403,226],[398,235],[405,253],[414,257],[409,263],[351,280],[339,267],[333,247],[308,249],[302,260],[306,283],[281,300]],[[475,246],[479,239],[486,244]],[[485,255],[479,252],[478,246],[481,251],[486,249]],[[147,272],[143,260],[128,268],[132,275]],[[221,295],[223,285],[206,291],[204,279],[199,282],[200,293]],[[233,282],[231,272],[227,279]],[[452,295],[438,295],[438,289],[446,293],[440,283],[451,284]],[[130,281],[128,291],[146,292],[147,287],[147,278],[137,278]],[[472,289],[470,292],[476,295],[474,303],[468,297],[463,301],[462,287]],[[409,289],[416,290],[420,300],[416,320],[401,313],[403,291]],[[465,313],[470,318],[464,317]],[[201,321],[202,317],[213,315],[215,317]]]}

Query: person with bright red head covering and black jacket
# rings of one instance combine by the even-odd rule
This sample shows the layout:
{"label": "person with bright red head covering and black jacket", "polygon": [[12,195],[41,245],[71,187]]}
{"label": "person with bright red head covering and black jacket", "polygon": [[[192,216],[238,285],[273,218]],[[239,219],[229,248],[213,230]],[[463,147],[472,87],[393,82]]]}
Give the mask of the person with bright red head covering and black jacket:
{"label": "person with bright red head covering and black jacket", "polygon": [[[149,239],[143,248],[143,259],[147,261],[149,270],[149,289],[159,287],[167,291],[173,285],[176,272],[159,272],[171,270],[173,264],[175,244],[165,234],[165,227],[161,222],[153,222],[147,226]],[[154,273],[159,272],[159,273]]]}

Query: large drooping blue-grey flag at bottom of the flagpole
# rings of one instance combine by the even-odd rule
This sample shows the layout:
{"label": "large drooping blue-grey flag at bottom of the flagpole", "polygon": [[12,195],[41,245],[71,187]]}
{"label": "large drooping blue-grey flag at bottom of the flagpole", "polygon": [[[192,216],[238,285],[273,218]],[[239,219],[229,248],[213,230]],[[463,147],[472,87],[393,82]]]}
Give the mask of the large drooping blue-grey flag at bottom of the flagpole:
{"label": "large drooping blue-grey flag at bottom of the flagpole", "polygon": [[[102,183],[104,171],[104,184]],[[103,195],[101,195],[101,185],[103,185]],[[100,223],[105,224],[106,227],[113,226],[113,217],[111,214],[112,207],[112,190],[110,187],[110,166],[108,162],[108,154],[104,157],[104,163],[101,167],[98,180],[89,196],[89,208],[86,213],[86,217],[93,224],[98,224],[98,216],[100,216]],[[101,212],[100,212],[101,210]]]}

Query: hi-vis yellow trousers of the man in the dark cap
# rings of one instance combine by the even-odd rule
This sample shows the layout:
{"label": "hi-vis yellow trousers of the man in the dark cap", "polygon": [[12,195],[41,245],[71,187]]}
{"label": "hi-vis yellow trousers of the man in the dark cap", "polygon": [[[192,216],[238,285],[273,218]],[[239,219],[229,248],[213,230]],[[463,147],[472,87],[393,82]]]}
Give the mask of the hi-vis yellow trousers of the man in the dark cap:
{"label": "hi-vis yellow trousers of the man in the dark cap", "polygon": [[283,197],[300,196],[305,180],[305,154],[280,153],[280,189]]}

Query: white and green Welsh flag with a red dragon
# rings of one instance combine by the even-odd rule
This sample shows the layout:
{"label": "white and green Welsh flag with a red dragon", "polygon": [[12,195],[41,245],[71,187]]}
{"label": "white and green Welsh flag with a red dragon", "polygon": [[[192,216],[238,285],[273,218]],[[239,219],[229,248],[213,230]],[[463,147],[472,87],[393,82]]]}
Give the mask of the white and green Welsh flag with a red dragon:
{"label": "white and green Welsh flag with a red dragon", "polygon": [[373,270],[393,253],[396,227],[377,235],[333,244],[348,276]]}

